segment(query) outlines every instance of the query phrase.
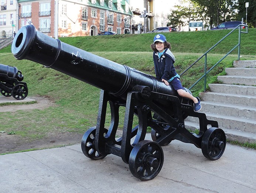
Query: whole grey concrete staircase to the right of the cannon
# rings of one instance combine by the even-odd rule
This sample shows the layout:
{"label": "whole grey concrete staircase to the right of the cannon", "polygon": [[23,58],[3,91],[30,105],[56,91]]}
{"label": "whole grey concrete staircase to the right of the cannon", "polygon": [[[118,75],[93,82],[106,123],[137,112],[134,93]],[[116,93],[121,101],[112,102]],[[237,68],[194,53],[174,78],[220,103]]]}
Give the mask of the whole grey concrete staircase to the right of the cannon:
{"label": "whole grey concrete staircase to the right of the cannon", "polygon": [[[209,84],[210,92],[200,93],[201,112],[218,121],[227,139],[256,143],[256,60],[234,61],[218,76],[222,84]],[[188,129],[199,129],[198,118],[185,119]]]}

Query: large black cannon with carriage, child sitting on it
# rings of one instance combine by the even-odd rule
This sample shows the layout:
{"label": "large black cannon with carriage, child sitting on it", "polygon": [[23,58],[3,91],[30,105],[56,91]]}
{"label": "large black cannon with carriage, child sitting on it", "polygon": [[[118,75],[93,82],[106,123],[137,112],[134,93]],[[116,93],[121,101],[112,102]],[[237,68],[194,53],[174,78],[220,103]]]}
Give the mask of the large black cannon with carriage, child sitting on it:
{"label": "large black cannon with carriage, child sitting on it", "polygon": [[[102,89],[97,125],[82,137],[82,151],[88,158],[122,157],[135,177],[147,181],[160,172],[164,161],[161,146],[172,140],[194,144],[210,160],[219,159],[225,150],[226,136],[218,122],[194,112],[192,101],[179,97],[153,76],[53,39],[33,25],[18,31],[11,49],[18,60],[38,62]],[[107,107],[111,111],[109,128],[105,128]],[[122,137],[116,138],[120,107],[125,108],[124,125]],[[139,122],[136,126],[134,115]],[[186,129],[188,116],[199,119],[198,134]],[[152,141],[144,140],[148,128]]]}

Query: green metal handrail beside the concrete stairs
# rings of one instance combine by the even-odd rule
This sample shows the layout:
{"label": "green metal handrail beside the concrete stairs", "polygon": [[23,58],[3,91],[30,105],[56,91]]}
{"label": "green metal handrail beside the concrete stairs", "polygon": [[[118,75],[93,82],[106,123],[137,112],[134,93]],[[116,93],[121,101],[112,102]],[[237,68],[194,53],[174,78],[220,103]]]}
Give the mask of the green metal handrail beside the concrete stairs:
{"label": "green metal handrail beside the concrete stairs", "polygon": [[[245,26],[246,31],[242,31],[241,27]],[[217,46],[220,42],[222,42],[222,40],[224,40],[226,37],[228,37],[231,33],[233,33],[236,29],[239,29],[239,35],[238,35],[238,44],[236,44],[236,46],[234,46],[225,56],[223,56],[221,58],[221,60],[219,60],[216,64],[214,64],[208,71],[207,71],[207,54],[209,53],[209,51],[211,51],[212,49],[214,49],[215,46]],[[216,67],[216,65],[219,64],[219,62],[221,62],[225,57],[227,57],[233,50],[235,50],[238,47],[238,60],[240,60],[240,43],[241,43],[241,33],[248,33],[248,25],[244,25],[244,24],[239,24],[238,26],[236,26],[236,28],[234,28],[231,32],[229,32],[226,36],[224,36],[221,40],[219,40],[219,42],[217,42],[214,46],[212,46],[208,51],[206,51],[202,56],[200,56],[193,64],[191,64],[187,69],[185,69],[180,76],[182,76],[185,72],[188,71],[188,69],[190,69],[193,65],[195,65],[202,57],[205,57],[204,59],[204,75],[202,75],[190,88],[189,90],[194,87],[199,81],[201,81],[201,79],[204,78],[204,92],[206,91],[206,75],[214,68]]]}

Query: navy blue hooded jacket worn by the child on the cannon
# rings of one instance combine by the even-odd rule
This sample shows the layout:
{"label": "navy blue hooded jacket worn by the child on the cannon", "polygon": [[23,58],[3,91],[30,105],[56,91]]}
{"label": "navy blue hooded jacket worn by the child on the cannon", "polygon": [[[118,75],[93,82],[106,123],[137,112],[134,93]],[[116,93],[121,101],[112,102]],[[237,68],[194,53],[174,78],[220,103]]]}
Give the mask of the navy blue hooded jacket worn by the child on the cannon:
{"label": "navy blue hooded jacket worn by the child on the cannon", "polygon": [[160,58],[158,58],[157,52],[154,51],[153,59],[157,79],[168,81],[177,74],[173,65],[175,57],[170,49],[165,49]]}

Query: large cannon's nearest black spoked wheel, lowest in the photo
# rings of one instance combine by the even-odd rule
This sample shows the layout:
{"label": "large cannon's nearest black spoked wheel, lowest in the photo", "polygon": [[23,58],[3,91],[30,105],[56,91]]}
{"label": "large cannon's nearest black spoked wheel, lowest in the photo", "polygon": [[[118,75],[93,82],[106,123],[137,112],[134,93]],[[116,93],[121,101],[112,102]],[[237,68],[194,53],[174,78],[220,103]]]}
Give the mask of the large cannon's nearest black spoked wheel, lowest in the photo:
{"label": "large cannon's nearest black spoked wheel, lowest in the photo", "polygon": [[161,146],[149,140],[137,143],[129,157],[131,173],[141,181],[148,181],[158,175],[164,163]]}

